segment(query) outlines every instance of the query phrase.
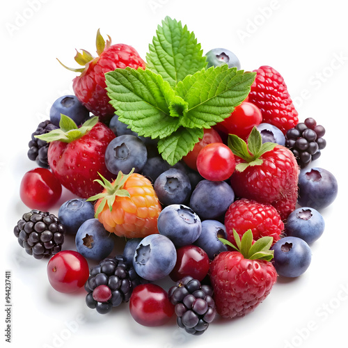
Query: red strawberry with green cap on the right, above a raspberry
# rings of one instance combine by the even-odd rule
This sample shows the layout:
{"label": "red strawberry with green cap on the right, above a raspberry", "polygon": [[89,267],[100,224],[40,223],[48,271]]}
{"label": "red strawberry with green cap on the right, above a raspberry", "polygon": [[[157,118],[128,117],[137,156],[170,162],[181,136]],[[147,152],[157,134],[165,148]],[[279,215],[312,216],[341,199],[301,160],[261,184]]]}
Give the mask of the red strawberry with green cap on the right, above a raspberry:
{"label": "red strawberry with green cap on the right, above a raspberry", "polygon": [[235,154],[236,168],[230,178],[239,198],[273,205],[282,220],[295,209],[298,195],[299,166],[294,154],[276,143],[262,144],[254,127],[248,145],[234,134],[228,144]]}

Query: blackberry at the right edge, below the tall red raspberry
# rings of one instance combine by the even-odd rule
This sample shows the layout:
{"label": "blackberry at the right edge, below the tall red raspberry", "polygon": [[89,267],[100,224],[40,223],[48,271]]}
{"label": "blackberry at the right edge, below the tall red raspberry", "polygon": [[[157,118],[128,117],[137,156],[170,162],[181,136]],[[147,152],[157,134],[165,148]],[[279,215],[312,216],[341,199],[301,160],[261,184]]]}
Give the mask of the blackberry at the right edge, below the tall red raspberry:
{"label": "blackberry at the right edge, below the tall red raspberry", "polygon": [[322,138],[324,134],[325,128],[317,125],[314,118],[306,118],[287,131],[285,146],[292,151],[301,168],[320,157],[321,150],[326,146],[326,141]]}

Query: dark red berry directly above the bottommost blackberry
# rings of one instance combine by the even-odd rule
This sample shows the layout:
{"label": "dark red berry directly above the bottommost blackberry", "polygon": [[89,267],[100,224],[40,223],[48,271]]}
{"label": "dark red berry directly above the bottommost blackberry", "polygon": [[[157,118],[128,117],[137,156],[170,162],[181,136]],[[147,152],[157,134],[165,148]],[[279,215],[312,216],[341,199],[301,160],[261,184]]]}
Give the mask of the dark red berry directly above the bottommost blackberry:
{"label": "dark red berry directly above the bottommost blackberry", "polygon": [[185,245],[177,249],[177,261],[169,276],[175,282],[191,276],[199,281],[203,280],[209,271],[207,253],[195,245]]}

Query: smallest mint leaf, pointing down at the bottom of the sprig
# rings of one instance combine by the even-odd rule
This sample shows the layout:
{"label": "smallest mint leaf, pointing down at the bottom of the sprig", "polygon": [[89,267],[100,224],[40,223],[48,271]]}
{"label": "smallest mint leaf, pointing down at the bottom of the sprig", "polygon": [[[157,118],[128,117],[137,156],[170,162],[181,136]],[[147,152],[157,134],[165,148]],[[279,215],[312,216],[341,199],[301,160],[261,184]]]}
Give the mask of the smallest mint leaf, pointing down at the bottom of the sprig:
{"label": "smallest mint leaf, pointing down at the bottom of the sprig", "polygon": [[202,128],[187,129],[180,127],[164,139],[159,139],[158,150],[162,158],[173,166],[193,149],[195,143],[203,138]]}

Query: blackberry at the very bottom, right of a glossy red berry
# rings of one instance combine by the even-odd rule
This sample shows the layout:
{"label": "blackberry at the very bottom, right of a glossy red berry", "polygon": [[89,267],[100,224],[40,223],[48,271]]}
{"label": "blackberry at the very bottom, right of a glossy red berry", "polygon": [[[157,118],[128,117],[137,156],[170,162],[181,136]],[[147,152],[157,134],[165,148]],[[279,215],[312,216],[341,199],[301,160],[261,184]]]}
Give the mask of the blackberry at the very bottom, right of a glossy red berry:
{"label": "blackberry at the very bottom, right of a glossy red berry", "polygon": [[201,335],[214,320],[216,307],[209,285],[186,276],[168,291],[169,299],[175,306],[177,325],[192,335]]}

